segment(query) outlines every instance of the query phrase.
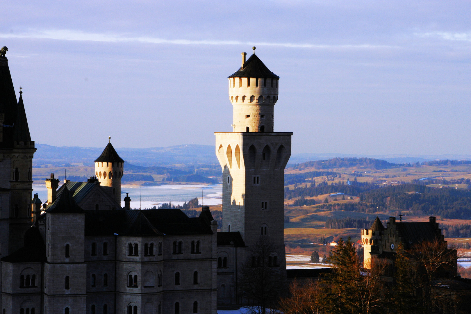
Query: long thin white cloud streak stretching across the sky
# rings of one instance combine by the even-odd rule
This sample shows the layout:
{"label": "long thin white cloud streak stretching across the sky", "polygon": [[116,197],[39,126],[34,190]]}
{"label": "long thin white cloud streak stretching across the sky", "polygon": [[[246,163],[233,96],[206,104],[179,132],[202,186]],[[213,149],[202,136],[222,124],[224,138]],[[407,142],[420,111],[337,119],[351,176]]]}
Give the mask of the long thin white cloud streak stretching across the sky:
{"label": "long thin white cloud streak stretching across the sky", "polygon": [[287,48],[398,48],[387,45],[315,45],[300,43],[276,43],[276,42],[255,42],[239,40],[186,40],[186,39],[162,39],[155,37],[129,37],[117,34],[88,33],[73,30],[47,30],[31,31],[26,33],[4,33],[0,38],[36,38],[53,40],[76,40],[76,41],[100,41],[100,42],[141,42],[151,44],[174,44],[174,45],[258,45],[258,46],[278,46]]}

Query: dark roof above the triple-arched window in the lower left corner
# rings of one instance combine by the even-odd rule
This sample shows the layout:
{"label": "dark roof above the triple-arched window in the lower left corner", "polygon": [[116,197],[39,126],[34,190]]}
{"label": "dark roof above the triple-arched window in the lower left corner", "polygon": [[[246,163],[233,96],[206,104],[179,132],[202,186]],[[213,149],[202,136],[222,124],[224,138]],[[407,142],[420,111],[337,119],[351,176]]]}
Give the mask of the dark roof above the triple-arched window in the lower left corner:
{"label": "dark roof above the triple-arched window in the lower left corner", "polygon": [[1,259],[8,263],[32,263],[46,261],[46,246],[38,228],[31,227],[24,234],[24,246]]}

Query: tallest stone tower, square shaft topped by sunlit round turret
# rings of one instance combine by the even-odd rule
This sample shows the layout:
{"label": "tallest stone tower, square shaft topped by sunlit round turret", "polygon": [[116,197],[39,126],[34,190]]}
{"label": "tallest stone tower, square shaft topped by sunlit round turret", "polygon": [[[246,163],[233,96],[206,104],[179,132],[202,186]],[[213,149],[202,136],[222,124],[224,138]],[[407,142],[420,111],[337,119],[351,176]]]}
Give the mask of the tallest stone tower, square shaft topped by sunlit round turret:
{"label": "tallest stone tower, square shaft topped by sunlit round turret", "polygon": [[268,237],[285,267],[284,167],[292,133],[274,131],[279,77],[255,53],[248,60],[245,56],[228,77],[233,132],[215,133],[223,170],[222,231],[239,231],[248,246]]}

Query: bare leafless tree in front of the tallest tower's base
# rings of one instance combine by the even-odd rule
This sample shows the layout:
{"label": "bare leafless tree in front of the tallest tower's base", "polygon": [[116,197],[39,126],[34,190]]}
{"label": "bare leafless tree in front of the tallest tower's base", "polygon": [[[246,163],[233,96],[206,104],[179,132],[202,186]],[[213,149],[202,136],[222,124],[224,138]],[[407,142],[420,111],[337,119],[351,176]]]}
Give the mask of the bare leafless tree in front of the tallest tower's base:
{"label": "bare leafless tree in front of the tallest tower's base", "polygon": [[273,311],[285,290],[285,271],[277,263],[277,252],[267,236],[251,245],[250,255],[240,269],[239,294],[254,303],[252,312]]}

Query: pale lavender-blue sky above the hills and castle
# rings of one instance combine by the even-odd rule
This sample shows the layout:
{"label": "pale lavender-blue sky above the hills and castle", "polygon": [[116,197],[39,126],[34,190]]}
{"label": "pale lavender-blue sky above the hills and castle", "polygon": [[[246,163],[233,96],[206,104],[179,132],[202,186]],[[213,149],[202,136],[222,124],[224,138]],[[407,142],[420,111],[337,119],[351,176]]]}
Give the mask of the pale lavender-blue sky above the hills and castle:
{"label": "pale lavender-blue sky above the hills and castle", "polygon": [[256,46],[292,153],[471,154],[469,1],[0,3],[37,143],[214,145]]}

